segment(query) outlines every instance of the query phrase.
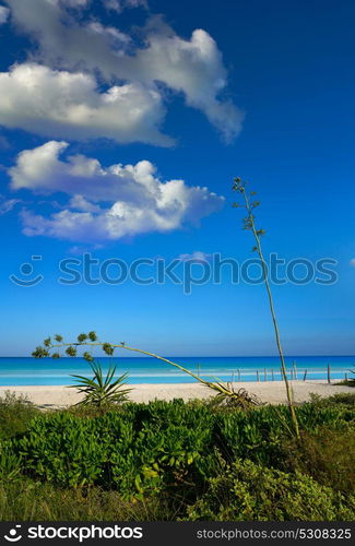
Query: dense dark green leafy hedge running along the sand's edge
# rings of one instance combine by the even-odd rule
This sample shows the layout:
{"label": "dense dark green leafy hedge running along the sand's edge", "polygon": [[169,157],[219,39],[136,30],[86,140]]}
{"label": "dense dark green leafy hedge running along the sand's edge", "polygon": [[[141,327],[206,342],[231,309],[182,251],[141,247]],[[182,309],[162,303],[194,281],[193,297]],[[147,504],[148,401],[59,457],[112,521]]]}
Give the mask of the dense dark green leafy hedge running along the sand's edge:
{"label": "dense dark green leafy hedge running along the sand's edge", "polygon": [[[165,491],[188,501],[239,459],[286,472],[296,468],[324,484],[331,480],[332,468],[326,463],[324,476],[317,475],[319,459],[306,458],[309,466],[298,455],[289,459],[288,451],[298,453],[299,444],[285,406],[215,412],[202,403],[175,400],[127,403],[103,415],[88,410],[40,414],[33,419],[12,440],[23,472],[60,487],[115,489],[126,499]],[[354,410],[346,404],[309,403],[296,412],[304,437],[353,426]],[[333,456],[338,456],[335,451]]]}

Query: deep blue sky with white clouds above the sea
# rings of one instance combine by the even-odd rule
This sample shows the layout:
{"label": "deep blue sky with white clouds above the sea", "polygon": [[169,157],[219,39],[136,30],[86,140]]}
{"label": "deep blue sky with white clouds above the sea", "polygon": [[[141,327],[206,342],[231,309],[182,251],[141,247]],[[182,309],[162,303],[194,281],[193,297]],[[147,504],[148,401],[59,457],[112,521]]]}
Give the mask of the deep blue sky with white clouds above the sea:
{"label": "deep blue sky with white clouds above the sea", "polygon": [[[0,354],[92,329],[166,355],[275,354],[263,286],[226,270],[191,295],[58,283],[83,252],[252,258],[234,176],[262,201],[267,254],[338,261],[335,284],[273,288],[285,352],[355,354],[354,3],[108,3],[0,1]],[[11,282],[32,256],[44,280]]]}

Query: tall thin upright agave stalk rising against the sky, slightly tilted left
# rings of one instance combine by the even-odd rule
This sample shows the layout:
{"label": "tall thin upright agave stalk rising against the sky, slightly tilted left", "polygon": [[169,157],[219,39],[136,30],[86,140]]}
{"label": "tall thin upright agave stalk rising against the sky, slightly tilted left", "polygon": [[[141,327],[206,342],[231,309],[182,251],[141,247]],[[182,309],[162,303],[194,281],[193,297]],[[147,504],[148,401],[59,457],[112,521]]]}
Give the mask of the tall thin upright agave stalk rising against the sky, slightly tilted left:
{"label": "tall thin upright agave stalk rising against the sky, slightly tilted left", "polygon": [[247,215],[244,217],[244,229],[251,232],[253,235],[256,246],[253,247],[253,251],[259,254],[260,262],[261,262],[261,268],[262,268],[262,275],[263,275],[263,281],[264,285],[267,288],[268,293],[268,300],[269,300],[269,307],[270,307],[270,312],[271,312],[271,318],[272,318],[272,323],[275,332],[275,339],[276,339],[276,345],[277,345],[277,352],[281,360],[281,370],[282,370],[282,376],[285,382],[285,388],[286,388],[286,395],[287,395],[287,402],[288,402],[288,407],[291,412],[291,417],[294,424],[295,428],[295,434],[297,438],[299,438],[299,428],[298,428],[298,422],[297,422],[297,416],[295,412],[295,407],[293,404],[292,400],[292,392],[291,392],[291,387],[289,382],[287,379],[287,371],[286,371],[286,366],[285,366],[285,359],[284,359],[284,354],[282,351],[282,345],[281,345],[281,340],[280,340],[280,331],[279,331],[279,324],[276,320],[276,313],[275,313],[275,308],[274,308],[274,302],[273,302],[273,297],[272,297],[272,292],[271,292],[271,286],[269,283],[269,276],[268,276],[268,265],[262,252],[262,247],[261,247],[261,237],[265,234],[264,229],[260,229],[256,226],[256,216],[253,214],[255,209],[257,209],[260,205],[260,201],[255,201],[253,198],[257,194],[255,191],[248,191],[246,190],[246,186],[248,182],[242,181],[240,178],[235,178],[234,183],[233,183],[233,191],[238,192],[242,197],[242,202],[241,203],[234,203],[234,207],[241,207],[245,209],[247,212]]}

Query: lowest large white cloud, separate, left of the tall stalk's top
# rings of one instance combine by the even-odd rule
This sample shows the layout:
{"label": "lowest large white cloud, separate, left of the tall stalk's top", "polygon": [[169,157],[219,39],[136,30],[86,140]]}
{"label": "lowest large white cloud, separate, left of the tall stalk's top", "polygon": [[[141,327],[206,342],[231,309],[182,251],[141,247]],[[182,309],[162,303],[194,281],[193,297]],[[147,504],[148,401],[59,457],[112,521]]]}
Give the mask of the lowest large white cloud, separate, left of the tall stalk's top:
{"label": "lowest large white cloud, separate, left of the tall stalk's top", "polygon": [[99,242],[143,233],[181,228],[218,211],[224,198],[184,180],[162,181],[147,161],[104,167],[83,155],[61,155],[67,142],[50,141],[19,154],[9,169],[12,189],[62,192],[67,205],[48,217],[24,210],[23,233],[75,242]]}

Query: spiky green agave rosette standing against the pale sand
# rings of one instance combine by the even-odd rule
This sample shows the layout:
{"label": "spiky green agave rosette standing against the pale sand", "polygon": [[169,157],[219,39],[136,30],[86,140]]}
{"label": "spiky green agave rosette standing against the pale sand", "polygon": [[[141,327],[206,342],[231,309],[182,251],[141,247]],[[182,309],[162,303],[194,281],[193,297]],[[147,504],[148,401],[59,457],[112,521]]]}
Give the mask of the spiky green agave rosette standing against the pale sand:
{"label": "spiky green agave rosette standing against the pale sand", "polygon": [[116,366],[108,368],[106,377],[104,377],[99,363],[92,361],[90,366],[94,372],[92,379],[84,376],[71,376],[75,378],[76,383],[69,385],[69,388],[78,389],[84,394],[84,397],[76,405],[93,405],[102,410],[110,404],[127,402],[128,393],[132,390],[125,389],[128,373],[115,379]]}

